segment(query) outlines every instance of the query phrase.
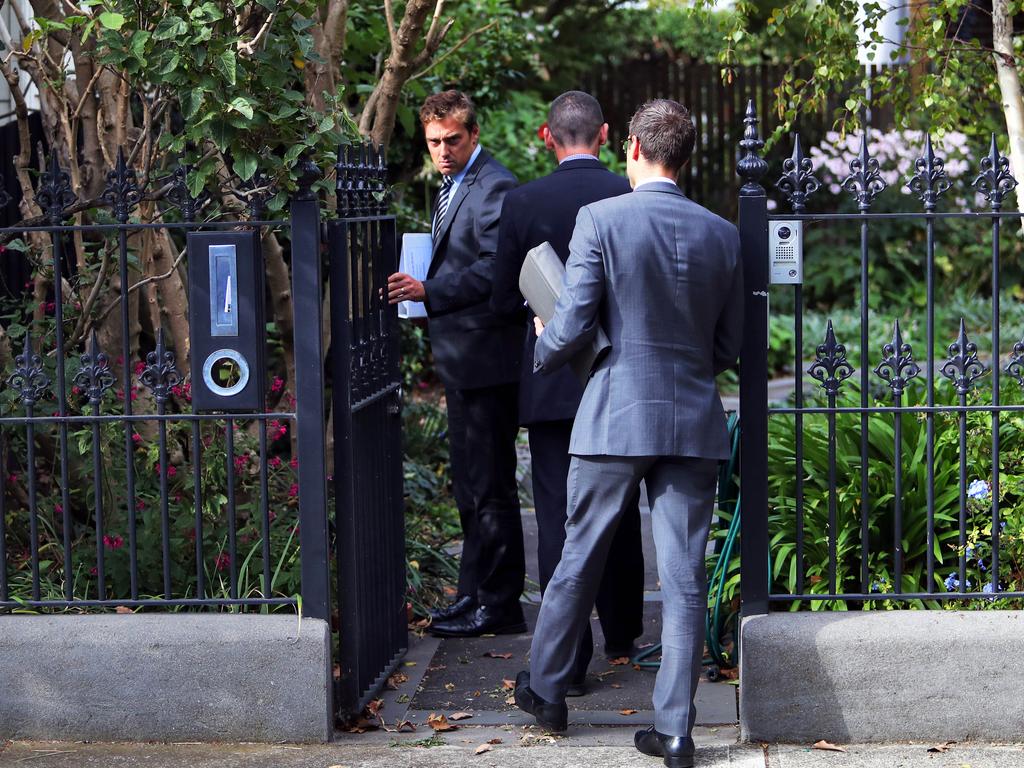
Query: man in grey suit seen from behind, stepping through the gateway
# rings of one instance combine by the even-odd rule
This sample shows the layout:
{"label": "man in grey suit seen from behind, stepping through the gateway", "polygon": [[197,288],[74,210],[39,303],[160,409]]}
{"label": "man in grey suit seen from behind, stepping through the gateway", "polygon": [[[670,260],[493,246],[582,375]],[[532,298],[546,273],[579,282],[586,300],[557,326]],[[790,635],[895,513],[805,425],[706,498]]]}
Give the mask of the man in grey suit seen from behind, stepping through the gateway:
{"label": "man in grey suit seen from behind, stepping through the gateway", "polygon": [[566,684],[608,545],[641,480],[651,505],[662,582],[662,666],[654,726],[640,752],[693,765],[693,697],[707,610],[705,549],[718,462],[728,457],[715,376],[732,366],[742,331],[736,227],[675,183],[693,151],[681,104],[656,99],[630,122],[634,190],[581,209],[565,285],[535,366],[564,365],[602,327],[611,349],[596,367],[572,428],[570,509],[562,559],[541,605],[530,671],[516,703],[552,730],[567,724]]}

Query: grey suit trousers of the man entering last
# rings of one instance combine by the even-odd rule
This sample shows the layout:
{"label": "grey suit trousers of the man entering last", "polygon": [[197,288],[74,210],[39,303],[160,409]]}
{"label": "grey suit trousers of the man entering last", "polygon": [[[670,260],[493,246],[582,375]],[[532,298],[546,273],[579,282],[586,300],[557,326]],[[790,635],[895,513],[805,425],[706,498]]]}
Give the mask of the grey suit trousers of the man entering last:
{"label": "grey suit trousers of the man entering last", "polygon": [[529,687],[565,698],[580,638],[590,622],[608,548],[640,480],[647,483],[662,582],[662,667],[654,727],[689,736],[708,609],[705,551],[718,462],[679,457],[573,456],[562,559],[548,584],[530,647]]}

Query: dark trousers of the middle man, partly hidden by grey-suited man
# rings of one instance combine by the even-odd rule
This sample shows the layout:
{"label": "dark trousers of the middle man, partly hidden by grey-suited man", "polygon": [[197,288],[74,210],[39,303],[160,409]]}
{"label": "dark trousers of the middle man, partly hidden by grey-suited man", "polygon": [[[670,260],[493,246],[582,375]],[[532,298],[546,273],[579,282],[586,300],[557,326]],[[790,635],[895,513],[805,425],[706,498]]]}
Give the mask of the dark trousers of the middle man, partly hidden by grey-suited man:
{"label": "dark trousers of the middle man, partly hidden by grey-suited man", "polygon": [[[542,592],[555,572],[565,543],[571,433],[570,420],[529,425],[530,471],[539,539],[537,559]],[[637,496],[618,522],[594,601],[605,643],[611,647],[629,647],[634,639],[643,634],[644,570],[639,501]],[[588,623],[577,653],[578,677],[586,674],[593,653],[594,637]]]}

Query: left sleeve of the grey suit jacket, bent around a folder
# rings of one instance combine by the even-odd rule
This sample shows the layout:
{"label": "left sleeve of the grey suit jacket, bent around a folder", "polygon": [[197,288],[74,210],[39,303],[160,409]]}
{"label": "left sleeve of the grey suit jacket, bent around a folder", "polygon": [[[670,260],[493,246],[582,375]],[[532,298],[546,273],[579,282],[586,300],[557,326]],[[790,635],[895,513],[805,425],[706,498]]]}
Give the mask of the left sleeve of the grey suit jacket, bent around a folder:
{"label": "left sleeve of the grey suit jacket, bent around a folder", "polygon": [[569,242],[565,283],[555,313],[537,340],[534,370],[550,372],[564,366],[597,334],[604,300],[604,257],[594,217],[581,208]]}

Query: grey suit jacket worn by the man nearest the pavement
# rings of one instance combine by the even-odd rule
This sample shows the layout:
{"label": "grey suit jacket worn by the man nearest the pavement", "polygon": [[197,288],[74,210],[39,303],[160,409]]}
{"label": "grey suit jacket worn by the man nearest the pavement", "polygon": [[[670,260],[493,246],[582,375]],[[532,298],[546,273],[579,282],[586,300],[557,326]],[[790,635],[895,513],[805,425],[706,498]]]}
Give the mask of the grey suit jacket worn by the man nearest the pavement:
{"label": "grey suit jacket worn by the man nearest the pavement", "polygon": [[548,371],[598,324],[611,341],[569,453],[728,458],[715,376],[739,354],[742,306],[736,227],[674,184],[582,208],[565,288],[535,352],[535,367]]}

